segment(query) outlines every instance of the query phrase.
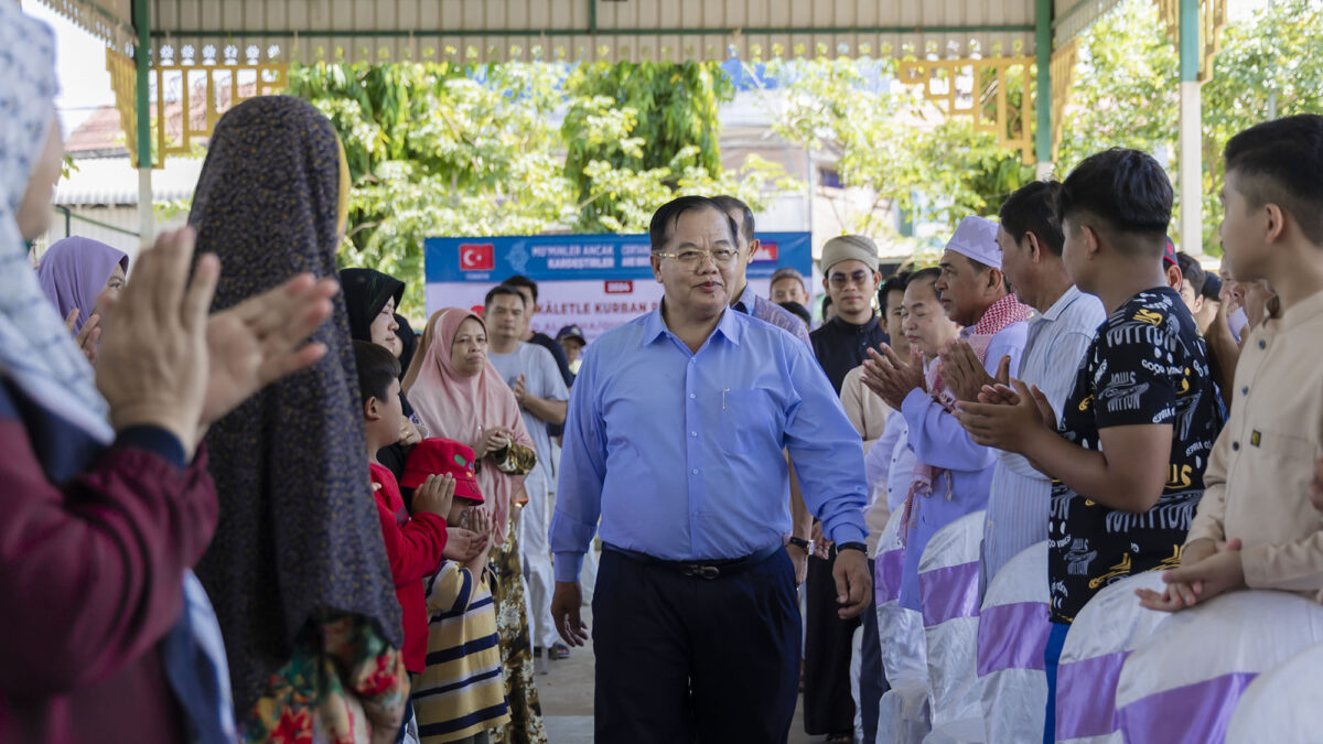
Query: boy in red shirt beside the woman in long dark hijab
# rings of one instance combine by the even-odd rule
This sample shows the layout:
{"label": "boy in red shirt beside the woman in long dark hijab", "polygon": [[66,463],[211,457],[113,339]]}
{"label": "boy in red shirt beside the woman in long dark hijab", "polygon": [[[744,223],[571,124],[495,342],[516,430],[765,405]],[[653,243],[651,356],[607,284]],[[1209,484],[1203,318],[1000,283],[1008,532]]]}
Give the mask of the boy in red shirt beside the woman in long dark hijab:
{"label": "boy in red shirt beside the woman in long dark hijab", "polygon": [[[390,470],[377,461],[377,453],[400,438],[404,412],[400,405],[400,363],[389,349],[353,342],[359,367],[359,395],[363,398],[364,429],[368,438],[368,466],[377,499],[381,536],[386,543],[396,597],[404,610],[405,669],[421,674],[427,655],[427,610],[423,579],[437,572],[446,547],[446,514],[455,492],[448,475],[417,483],[414,515],[410,519]],[[405,714],[407,719],[407,712]]]}

